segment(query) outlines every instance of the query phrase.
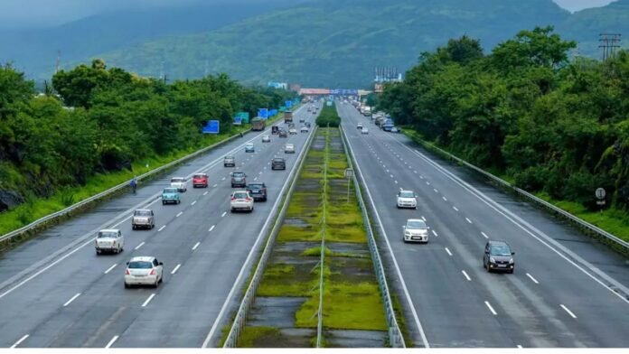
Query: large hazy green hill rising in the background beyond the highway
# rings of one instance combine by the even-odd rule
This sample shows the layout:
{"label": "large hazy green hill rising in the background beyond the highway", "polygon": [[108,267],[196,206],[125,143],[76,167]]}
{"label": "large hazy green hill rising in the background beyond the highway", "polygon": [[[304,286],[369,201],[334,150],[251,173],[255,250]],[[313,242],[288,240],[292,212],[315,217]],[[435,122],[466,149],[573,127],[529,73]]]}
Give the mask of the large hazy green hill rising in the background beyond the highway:
{"label": "large hazy green hill rising in the background beyond the highway", "polygon": [[319,0],[207,33],[177,35],[99,55],[155,76],[228,72],[246,82],[367,87],[375,66],[406,70],[421,51],[464,34],[485,49],[570,14],[551,0]]}

